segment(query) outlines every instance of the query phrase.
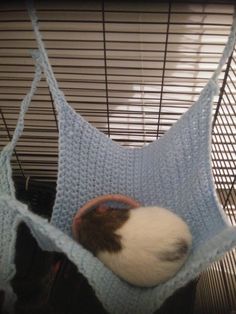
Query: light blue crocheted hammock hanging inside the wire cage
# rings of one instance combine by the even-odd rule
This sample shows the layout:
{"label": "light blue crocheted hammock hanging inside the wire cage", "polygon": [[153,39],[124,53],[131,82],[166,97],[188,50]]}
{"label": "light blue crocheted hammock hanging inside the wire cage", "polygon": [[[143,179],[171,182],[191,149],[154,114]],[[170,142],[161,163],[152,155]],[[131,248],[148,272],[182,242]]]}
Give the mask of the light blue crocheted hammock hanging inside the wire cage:
{"label": "light blue crocheted hammock hanging inside the wire cage", "polygon": [[[234,47],[236,17],[219,65],[199,99],[161,139],[141,149],[127,149],[68,105],[54,77],[32,7],[29,14],[38,43],[35,75],[22,101],[12,140],[0,154],[0,286],[8,292],[7,301],[12,304],[9,282],[15,274],[16,229],[24,221],[41,248],[67,255],[109,312],[152,313],[176,289],[236,246],[236,228],[228,223],[217,200],[210,157],[213,97],[218,93],[217,77]],[[59,121],[57,193],[50,223],[17,201],[10,165],[41,70]],[[191,254],[169,281],[153,288],[129,285],[72,239],[77,209],[98,195],[114,193],[129,195],[143,205],[169,208],[189,225],[193,236]]]}

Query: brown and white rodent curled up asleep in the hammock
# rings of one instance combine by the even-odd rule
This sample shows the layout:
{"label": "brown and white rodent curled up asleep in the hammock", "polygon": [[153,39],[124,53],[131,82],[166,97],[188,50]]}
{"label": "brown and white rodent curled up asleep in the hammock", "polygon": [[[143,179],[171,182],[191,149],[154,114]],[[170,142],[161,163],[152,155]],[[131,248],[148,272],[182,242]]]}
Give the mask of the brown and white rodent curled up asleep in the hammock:
{"label": "brown and white rodent curled up asleep in the hammock", "polygon": [[111,208],[94,199],[89,203],[100,203],[97,208],[85,206],[75,216],[74,238],[130,284],[151,287],[167,281],[187,259],[192,243],[187,224],[170,210],[114,196],[125,197],[121,201],[135,209]]}

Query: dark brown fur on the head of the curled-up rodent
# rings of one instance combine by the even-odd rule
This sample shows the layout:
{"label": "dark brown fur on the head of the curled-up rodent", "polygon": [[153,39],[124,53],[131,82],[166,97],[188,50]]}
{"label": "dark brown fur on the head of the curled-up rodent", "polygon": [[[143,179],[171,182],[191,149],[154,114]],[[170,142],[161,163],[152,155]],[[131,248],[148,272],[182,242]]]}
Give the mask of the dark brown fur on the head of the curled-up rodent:
{"label": "dark brown fur on the head of the curled-up rodent", "polygon": [[97,255],[98,252],[119,252],[121,236],[115,231],[129,218],[128,209],[115,209],[100,205],[80,218],[78,240],[83,247]]}

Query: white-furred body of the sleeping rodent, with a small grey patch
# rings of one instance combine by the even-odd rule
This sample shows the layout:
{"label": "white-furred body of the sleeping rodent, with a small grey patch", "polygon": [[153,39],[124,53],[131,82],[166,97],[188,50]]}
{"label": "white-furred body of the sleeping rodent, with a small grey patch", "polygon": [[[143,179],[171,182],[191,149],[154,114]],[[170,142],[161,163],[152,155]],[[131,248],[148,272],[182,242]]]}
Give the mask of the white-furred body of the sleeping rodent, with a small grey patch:
{"label": "white-furred body of the sleeping rodent, with a small grey patch", "polygon": [[159,207],[130,210],[116,231],[122,240],[118,253],[101,251],[98,258],[127,282],[151,287],[167,281],[184,264],[192,243],[187,224]]}

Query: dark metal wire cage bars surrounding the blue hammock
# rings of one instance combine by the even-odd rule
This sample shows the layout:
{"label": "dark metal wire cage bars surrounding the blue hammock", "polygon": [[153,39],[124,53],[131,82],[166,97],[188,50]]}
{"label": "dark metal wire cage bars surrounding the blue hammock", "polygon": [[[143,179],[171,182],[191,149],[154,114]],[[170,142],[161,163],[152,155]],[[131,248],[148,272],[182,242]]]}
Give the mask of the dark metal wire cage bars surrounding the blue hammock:
{"label": "dark metal wire cage bars surrounding the blue hammock", "polygon": [[[230,1],[37,2],[44,42],[73,108],[129,147],[160,138],[197,99],[217,66],[232,22]],[[11,138],[36,47],[21,3],[0,5],[0,147]],[[220,76],[212,133],[216,189],[236,224],[236,54]],[[12,160],[16,178],[55,182],[58,125],[43,80]],[[236,254],[200,277],[195,314],[236,311]],[[164,313],[164,312],[163,312]]]}

